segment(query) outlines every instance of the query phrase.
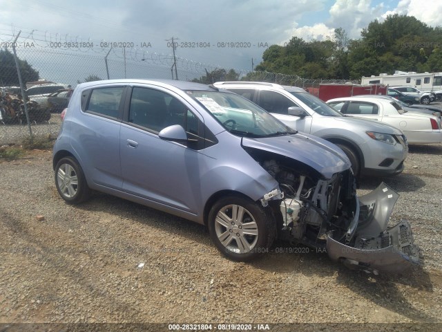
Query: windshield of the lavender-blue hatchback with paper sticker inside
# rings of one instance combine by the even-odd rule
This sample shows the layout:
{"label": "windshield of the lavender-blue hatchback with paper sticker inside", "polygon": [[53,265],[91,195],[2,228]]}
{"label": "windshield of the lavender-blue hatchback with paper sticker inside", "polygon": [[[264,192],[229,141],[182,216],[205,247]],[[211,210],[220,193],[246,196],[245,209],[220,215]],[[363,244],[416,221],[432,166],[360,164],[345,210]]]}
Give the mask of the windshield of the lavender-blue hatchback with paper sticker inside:
{"label": "windshield of the lavender-blue hatchback with paper sticker inside", "polygon": [[297,133],[246,98],[220,91],[186,91],[237,136],[270,137]]}

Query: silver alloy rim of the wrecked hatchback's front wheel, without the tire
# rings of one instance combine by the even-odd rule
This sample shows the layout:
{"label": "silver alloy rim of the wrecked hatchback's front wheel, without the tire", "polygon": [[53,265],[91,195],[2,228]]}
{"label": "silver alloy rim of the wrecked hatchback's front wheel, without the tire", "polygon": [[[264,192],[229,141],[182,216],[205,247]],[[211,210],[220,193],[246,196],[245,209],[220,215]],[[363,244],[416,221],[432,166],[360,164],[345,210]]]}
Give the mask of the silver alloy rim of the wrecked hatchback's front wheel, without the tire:
{"label": "silver alloy rim of the wrecked hatchback's front wheel, without the tire", "polygon": [[215,218],[216,236],[230,252],[250,252],[258,241],[258,225],[241,205],[225,205]]}

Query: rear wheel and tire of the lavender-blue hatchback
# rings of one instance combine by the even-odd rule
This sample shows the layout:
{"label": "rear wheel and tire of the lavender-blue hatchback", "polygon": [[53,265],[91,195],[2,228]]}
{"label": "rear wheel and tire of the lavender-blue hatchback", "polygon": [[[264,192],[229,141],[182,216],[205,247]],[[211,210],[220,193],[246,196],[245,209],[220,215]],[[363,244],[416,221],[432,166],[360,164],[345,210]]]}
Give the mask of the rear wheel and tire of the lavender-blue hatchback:
{"label": "rear wheel and tire of the lavender-blue hatchback", "polygon": [[72,157],[64,157],[55,166],[55,187],[62,199],[67,203],[77,204],[90,196],[83,169]]}

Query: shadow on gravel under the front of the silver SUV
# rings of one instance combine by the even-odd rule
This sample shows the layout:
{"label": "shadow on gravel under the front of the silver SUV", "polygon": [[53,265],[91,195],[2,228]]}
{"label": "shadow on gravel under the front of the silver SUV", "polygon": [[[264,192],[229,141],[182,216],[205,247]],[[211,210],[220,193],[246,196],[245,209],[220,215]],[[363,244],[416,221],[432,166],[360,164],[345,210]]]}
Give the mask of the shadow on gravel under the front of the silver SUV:
{"label": "shadow on gravel under the front of the silver SUV", "polygon": [[389,178],[360,178],[359,190],[375,190],[381,183],[385,183],[396,192],[414,192],[425,187],[425,181],[414,174],[402,173]]}

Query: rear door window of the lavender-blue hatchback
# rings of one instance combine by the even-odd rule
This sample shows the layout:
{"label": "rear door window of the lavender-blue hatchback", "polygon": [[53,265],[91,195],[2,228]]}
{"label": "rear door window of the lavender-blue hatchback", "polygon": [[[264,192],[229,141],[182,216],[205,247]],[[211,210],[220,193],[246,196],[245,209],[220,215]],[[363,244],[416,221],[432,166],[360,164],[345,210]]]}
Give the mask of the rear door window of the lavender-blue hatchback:
{"label": "rear door window of the lavender-blue hatchback", "polygon": [[108,86],[93,89],[90,93],[86,112],[96,113],[109,118],[119,117],[119,102],[122,99],[124,86]]}

